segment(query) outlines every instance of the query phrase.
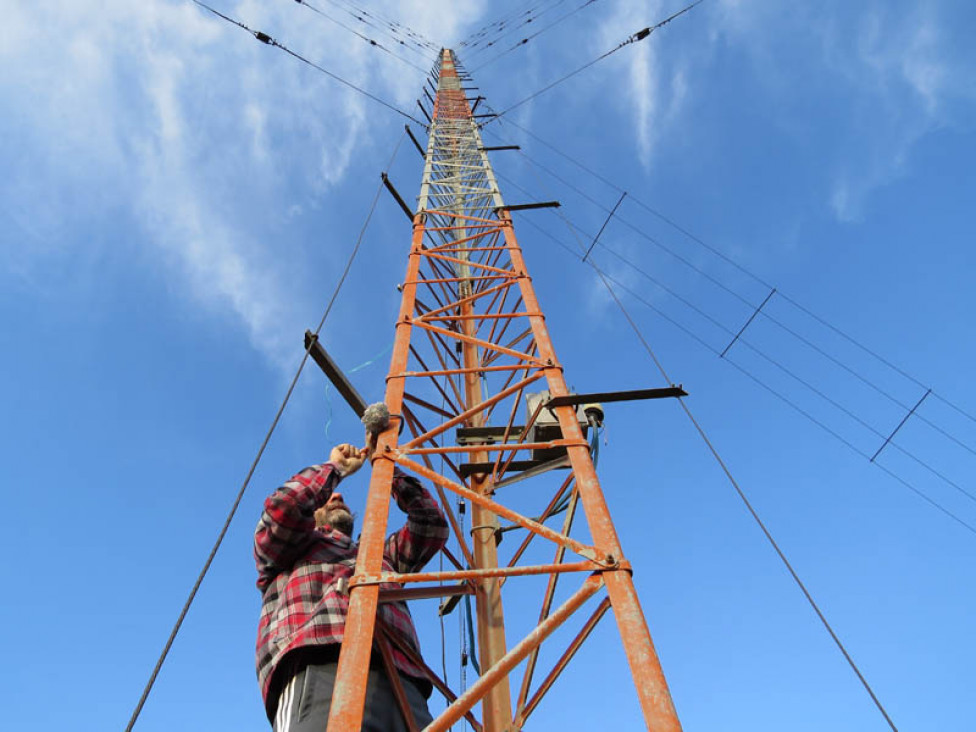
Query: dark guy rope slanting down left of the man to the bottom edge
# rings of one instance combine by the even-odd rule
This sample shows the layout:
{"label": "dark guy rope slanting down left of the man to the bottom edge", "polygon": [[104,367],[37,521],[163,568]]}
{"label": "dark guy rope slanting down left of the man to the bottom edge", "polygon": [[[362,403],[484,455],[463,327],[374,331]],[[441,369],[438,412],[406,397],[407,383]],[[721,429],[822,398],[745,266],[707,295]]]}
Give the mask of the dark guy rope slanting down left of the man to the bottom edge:
{"label": "dark guy rope slanting down left of the man to the bottom edge", "polygon": [[[196,2],[196,0],[194,0],[194,2]],[[390,163],[387,166],[388,168],[393,164],[393,160],[396,158],[397,151],[399,151],[400,144],[403,142],[403,137],[405,135],[406,133],[401,135],[400,140],[397,142],[396,147],[393,150],[393,156],[390,158]],[[379,201],[380,193],[382,191],[383,184],[381,183],[376,189],[376,195],[373,197],[373,203],[370,206],[369,213],[366,216],[366,221],[363,223],[363,228],[359,232],[359,238],[356,240],[356,245],[353,247],[352,253],[349,255],[349,260],[346,262],[346,267],[342,271],[342,276],[339,278],[335,291],[332,293],[332,297],[329,299],[329,304],[326,306],[325,312],[322,314],[322,319],[319,320],[319,324],[315,328],[315,335],[318,335],[322,330],[322,326],[325,325],[325,321],[329,317],[329,313],[332,312],[332,306],[335,304],[336,298],[339,296],[339,291],[342,289],[342,285],[346,281],[346,277],[349,275],[349,270],[352,268],[352,263],[355,260],[356,255],[359,253],[360,246],[363,243],[363,237],[366,235],[366,229],[369,227],[370,219],[373,217],[373,212],[376,210],[376,204]],[[288,401],[291,399],[292,392],[295,390],[295,385],[298,383],[298,378],[302,375],[302,370],[305,368],[305,363],[308,361],[309,353],[311,352],[311,348],[314,343],[315,339],[312,339],[309,347],[305,349],[305,353],[302,355],[302,360],[298,364],[298,369],[295,371],[295,376],[288,385],[284,399],[281,400],[281,406],[278,407],[278,411],[275,413],[274,419],[271,421],[271,426],[268,428],[268,432],[264,436],[264,440],[261,442],[261,447],[258,448],[257,455],[254,456],[254,461],[251,463],[251,467],[247,471],[244,482],[241,485],[240,490],[237,492],[237,497],[234,499],[234,504],[231,506],[230,513],[227,514],[227,519],[224,521],[224,525],[220,529],[220,533],[217,536],[217,541],[214,542],[213,548],[210,550],[209,556],[207,556],[207,561],[204,562],[203,569],[200,570],[200,574],[197,576],[196,582],[193,583],[193,588],[190,590],[190,594],[186,598],[186,602],[183,604],[183,609],[180,611],[180,615],[176,619],[173,629],[170,631],[169,638],[166,639],[166,644],[163,646],[163,651],[159,654],[159,660],[156,661],[156,665],[153,668],[152,673],[149,675],[149,681],[146,682],[146,686],[142,690],[142,696],[139,697],[139,702],[136,704],[136,708],[132,712],[132,717],[129,719],[129,723],[125,727],[125,732],[132,732],[132,728],[135,726],[136,720],[139,718],[139,714],[142,712],[146,699],[149,698],[149,692],[152,691],[153,684],[156,683],[156,677],[159,675],[159,670],[163,667],[163,662],[166,660],[166,656],[169,654],[169,650],[173,646],[173,641],[176,640],[176,636],[180,632],[180,628],[183,626],[183,620],[186,618],[190,605],[193,604],[193,600],[197,595],[197,591],[200,589],[200,585],[207,576],[207,572],[210,571],[210,565],[213,564],[214,557],[217,556],[217,550],[220,549],[220,545],[223,543],[224,537],[227,535],[227,530],[230,528],[230,523],[234,519],[238,507],[241,505],[241,500],[244,498],[244,492],[247,490],[247,487],[251,482],[251,477],[254,475],[254,471],[258,467],[258,463],[261,461],[261,457],[264,455],[264,450],[271,441],[271,435],[274,434],[275,428],[278,426],[278,421],[281,419],[281,415],[284,413],[285,407],[288,405]]]}

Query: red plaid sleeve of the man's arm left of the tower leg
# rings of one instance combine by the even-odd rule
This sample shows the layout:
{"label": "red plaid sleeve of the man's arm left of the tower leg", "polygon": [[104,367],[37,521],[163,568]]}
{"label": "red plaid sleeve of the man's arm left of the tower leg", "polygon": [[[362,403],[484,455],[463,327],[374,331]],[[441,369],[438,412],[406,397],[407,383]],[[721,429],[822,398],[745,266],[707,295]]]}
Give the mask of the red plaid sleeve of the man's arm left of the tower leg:
{"label": "red plaid sleeve of the man's arm left of the tower leg", "polygon": [[331,463],[313,465],[265,499],[254,531],[259,590],[264,592],[278,574],[291,569],[315,540],[315,511],[329,500],[339,480]]}

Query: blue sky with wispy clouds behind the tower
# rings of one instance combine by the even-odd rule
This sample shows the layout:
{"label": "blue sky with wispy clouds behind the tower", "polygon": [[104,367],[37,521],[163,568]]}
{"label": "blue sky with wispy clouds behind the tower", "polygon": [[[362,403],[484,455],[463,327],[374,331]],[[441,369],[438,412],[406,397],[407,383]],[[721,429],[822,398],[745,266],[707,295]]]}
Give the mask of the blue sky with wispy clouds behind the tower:
{"label": "blue sky with wispy clouds behind the tower", "polygon": [[[531,28],[581,4],[542,4]],[[413,200],[420,157],[403,117],[192,3],[7,5],[0,694],[11,728],[121,729],[380,172]],[[316,3],[359,28],[341,5]],[[421,71],[308,8],[214,6],[419,113]],[[367,9],[455,47],[522,12]],[[502,110],[678,9],[597,0],[497,60],[458,52]],[[494,157],[506,201],[563,203],[565,220],[526,213],[516,231],[580,391],[662,384],[566,249],[628,192],[594,262],[632,293],[644,336],[902,730],[971,729],[976,713],[976,423],[958,411],[976,414],[974,21],[958,0],[706,0],[484,131],[522,145]],[[382,394],[408,237],[383,194],[323,331],[340,364],[370,362],[355,375],[368,399]],[[928,388],[872,465],[863,455]],[[281,480],[358,434],[307,371],[137,729],[267,728],[251,532]],[[676,404],[608,408],[600,476],[685,729],[887,728]],[[365,478],[350,483],[361,508]],[[507,608],[513,636],[535,615],[525,602]],[[434,610],[414,614],[439,667]],[[608,621],[533,729],[640,728]],[[458,632],[455,614],[455,684]]]}

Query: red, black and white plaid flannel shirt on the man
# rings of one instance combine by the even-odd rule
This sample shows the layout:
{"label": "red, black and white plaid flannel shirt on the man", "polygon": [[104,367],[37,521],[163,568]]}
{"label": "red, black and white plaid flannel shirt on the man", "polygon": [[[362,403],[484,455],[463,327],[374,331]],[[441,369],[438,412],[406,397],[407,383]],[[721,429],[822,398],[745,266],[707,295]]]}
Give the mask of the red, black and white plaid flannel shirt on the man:
{"label": "red, black and white plaid flannel shirt on the man", "polygon": [[[268,699],[268,690],[286,654],[298,648],[342,642],[349,596],[339,592],[336,582],[352,577],[359,545],[338,531],[317,529],[313,516],[329,500],[340,479],[331,463],[305,468],[265,500],[254,533],[257,585],[264,595],[257,671],[268,710],[277,705],[277,699]],[[447,522],[437,501],[420,482],[399,470],[393,478],[393,497],[406,512],[407,523],[387,538],[383,570],[417,572],[444,546]],[[406,603],[383,603],[379,615],[419,652]],[[419,668],[396,648],[392,650],[397,668],[424,678]]]}

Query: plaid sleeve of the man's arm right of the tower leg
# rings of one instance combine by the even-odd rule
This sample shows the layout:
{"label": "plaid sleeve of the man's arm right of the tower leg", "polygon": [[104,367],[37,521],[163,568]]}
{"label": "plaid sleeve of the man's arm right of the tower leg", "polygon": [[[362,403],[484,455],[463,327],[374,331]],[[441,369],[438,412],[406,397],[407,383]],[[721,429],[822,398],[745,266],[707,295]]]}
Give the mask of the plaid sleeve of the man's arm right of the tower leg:
{"label": "plaid sleeve of the man's arm right of the tower leg", "polygon": [[399,469],[393,497],[407,514],[407,524],[386,540],[386,555],[397,572],[419,572],[447,542],[447,520],[420,481]]}

